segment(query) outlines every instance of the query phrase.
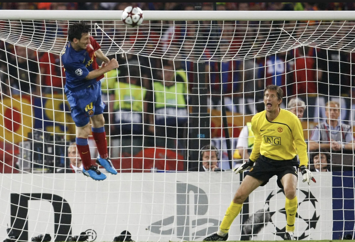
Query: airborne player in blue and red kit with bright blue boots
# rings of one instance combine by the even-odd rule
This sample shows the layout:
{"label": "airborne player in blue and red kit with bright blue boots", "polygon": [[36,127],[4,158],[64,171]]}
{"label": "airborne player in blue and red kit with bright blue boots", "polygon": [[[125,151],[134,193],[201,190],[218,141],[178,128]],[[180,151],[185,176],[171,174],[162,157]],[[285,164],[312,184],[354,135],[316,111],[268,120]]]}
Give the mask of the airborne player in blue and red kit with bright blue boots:
{"label": "airborne player in blue and red kit with bright blue boots", "polygon": [[[83,163],[83,174],[94,180],[104,180],[106,175],[91,164],[88,137],[92,136],[97,145],[98,165],[116,175],[107,151],[101,100],[101,82],[104,73],[118,68],[116,59],[109,60],[100,50],[100,45],[90,36],[90,27],[85,23],[74,23],[68,29],[68,40],[62,53],[65,68],[65,94],[71,108],[71,116],[76,125],[76,147]],[[103,61],[102,67],[96,57]],[[91,130],[90,130],[91,121]]]}

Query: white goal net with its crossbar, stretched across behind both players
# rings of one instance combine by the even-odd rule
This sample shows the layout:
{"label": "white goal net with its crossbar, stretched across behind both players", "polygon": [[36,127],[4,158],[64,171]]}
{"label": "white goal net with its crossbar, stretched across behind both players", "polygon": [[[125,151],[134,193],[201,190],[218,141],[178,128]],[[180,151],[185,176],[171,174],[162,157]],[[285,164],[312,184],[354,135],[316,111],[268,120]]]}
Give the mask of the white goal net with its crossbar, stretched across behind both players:
{"label": "white goal net with its crossbar, stretched across behind both players", "polygon": [[[84,232],[86,241],[119,241],[122,231],[134,241],[202,240],[217,231],[243,178],[232,172],[252,144],[243,127],[264,109],[269,84],[282,87],[281,108],[304,102],[295,107],[304,111],[308,148],[316,126],[344,124],[340,140],[321,129],[331,133],[328,144],[339,145],[324,151],[325,165],[313,159],[320,145],[308,150],[317,183],[298,183],[295,238],[353,235],[350,11],[144,11],[138,28],[124,26],[120,11],[0,13],[0,240],[49,234],[77,241]],[[77,21],[90,24],[103,53],[120,65],[101,81],[119,172],[103,182],[62,172],[75,160],[76,127],[60,56]],[[329,102],[339,106],[327,111]],[[238,146],[240,135],[246,146]],[[88,140],[94,164],[97,149]],[[201,165],[208,144],[218,149],[222,171],[188,171]],[[229,240],[282,240],[284,201],[273,177],[248,197]]]}

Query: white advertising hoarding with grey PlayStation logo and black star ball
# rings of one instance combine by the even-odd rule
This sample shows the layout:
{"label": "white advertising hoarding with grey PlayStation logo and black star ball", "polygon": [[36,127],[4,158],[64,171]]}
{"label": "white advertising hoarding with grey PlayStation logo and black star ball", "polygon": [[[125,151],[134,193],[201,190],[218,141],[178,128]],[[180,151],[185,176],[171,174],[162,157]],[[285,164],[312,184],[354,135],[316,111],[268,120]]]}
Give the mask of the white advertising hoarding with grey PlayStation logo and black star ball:
{"label": "white advertising hoarding with grey PlayStation logo and black star ball", "polygon": [[[0,191],[0,240],[12,227],[28,241],[45,233],[51,241],[63,241],[83,231],[88,241],[113,241],[124,230],[135,241],[202,241],[217,230],[240,180],[234,172],[122,173],[100,182],[82,174],[0,177],[7,184]],[[311,187],[299,181],[295,237],[329,240],[331,173],[316,179]],[[248,221],[261,210],[269,218],[253,232],[252,240],[282,239],[278,231],[286,224],[285,196],[276,177],[257,188],[244,207],[249,210],[244,215],[251,217]],[[234,220],[229,240],[240,240],[242,215]]]}

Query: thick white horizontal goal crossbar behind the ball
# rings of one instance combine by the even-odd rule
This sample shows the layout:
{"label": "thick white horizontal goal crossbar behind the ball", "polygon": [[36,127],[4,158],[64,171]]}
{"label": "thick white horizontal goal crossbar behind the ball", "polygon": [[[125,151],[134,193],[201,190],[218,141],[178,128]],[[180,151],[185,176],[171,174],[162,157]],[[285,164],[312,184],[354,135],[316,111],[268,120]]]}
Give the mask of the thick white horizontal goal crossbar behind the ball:
{"label": "thick white horizontal goal crossbar behind the ball", "polygon": [[[354,11],[182,11],[144,10],[144,20],[355,20]],[[222,14],[223,13],[223,14]],[[121,20],[121,10],[0,10],[0,20]]]}

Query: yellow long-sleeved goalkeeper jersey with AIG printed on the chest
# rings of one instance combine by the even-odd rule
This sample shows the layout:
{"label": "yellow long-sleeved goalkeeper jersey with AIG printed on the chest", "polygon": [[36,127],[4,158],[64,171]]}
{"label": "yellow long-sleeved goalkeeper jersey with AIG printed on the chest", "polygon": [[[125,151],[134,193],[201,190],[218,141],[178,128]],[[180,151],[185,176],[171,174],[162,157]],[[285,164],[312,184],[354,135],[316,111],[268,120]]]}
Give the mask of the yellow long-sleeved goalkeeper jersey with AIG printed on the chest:
{"label": "yellow long-sleeved goalkeeper jersey with AIG printed on the chest", "polygon": [[307,166],[307,144],[300,120],[292,112],[280,109],[272,122],[266,119],[266,110],[251,119],[254,132],[254,147],[250,159],[256,161],[260,155],[274,160],[291,160],[297,154],[300,165]]}

